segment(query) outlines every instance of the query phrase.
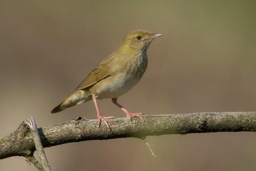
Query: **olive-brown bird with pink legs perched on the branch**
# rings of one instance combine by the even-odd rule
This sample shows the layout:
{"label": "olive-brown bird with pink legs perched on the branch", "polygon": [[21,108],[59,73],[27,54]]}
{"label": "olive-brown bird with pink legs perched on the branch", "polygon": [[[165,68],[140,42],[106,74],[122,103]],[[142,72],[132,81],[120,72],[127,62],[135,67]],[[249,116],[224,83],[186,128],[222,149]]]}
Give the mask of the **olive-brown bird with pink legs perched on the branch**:
{"label": "olive-brown bird with pink legs perched on the branch", "polygon": [[147,49],[152,40],[160,36],[163,36],[163,34],[151,33],[145,30],[133,30],[127,33],[116,51],[104,58],[62,103],[53,108],[51,113],[57,113],[66,108],[93,100],[97,111],[98,127],[100,127],[103,120],[110,129],[107,120],[115,117],[102,116],[97,100],[112,99],[112,102],[130,120],[132,120],[132,117],[144,120],[141,117],[142,113],[131,113],[121,106],[117,99],[140,81],[148,64]]}

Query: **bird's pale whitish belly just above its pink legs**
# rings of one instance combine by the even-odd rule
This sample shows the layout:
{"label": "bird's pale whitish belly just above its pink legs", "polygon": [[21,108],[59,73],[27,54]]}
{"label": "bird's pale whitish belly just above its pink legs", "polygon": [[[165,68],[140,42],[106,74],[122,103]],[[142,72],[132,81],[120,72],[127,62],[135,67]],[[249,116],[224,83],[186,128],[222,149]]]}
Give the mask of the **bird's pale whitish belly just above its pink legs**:
{"label": "bird's pale whitish belly just above its pink legs", "polygon": [[92,94],[98,99],[114,98],[123,95],[133,88],[140,78],[120,74],[115,77],[108,77],[95,84]]}

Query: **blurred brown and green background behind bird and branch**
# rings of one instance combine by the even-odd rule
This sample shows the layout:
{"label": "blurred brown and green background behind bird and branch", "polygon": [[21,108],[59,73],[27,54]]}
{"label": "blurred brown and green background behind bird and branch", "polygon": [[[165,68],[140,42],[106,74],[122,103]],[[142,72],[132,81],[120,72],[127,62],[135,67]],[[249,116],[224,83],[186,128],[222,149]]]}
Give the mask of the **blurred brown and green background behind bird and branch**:
{"label": "blurred brown and green background behind bird and branch", "polygon": [[[22,120],[38,127],[96,119],[92,101],[50,114],[133,29],[165,35],[148,49],[141,81],[119,102],[131,112],[256,111],[256,2],[251,0],[0,0],[0,137]],[[105,116],[125,117],[110,99]],[[53,171],[253,171],[256,134],[149,136],[46,148]],[[35,171],[24,157],[1,171]]]}

